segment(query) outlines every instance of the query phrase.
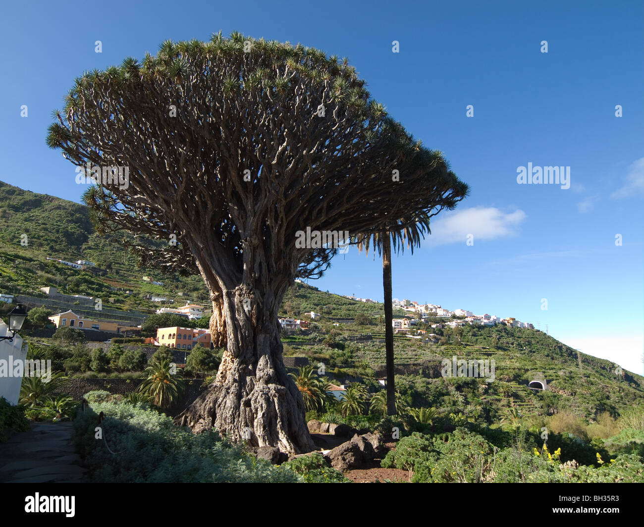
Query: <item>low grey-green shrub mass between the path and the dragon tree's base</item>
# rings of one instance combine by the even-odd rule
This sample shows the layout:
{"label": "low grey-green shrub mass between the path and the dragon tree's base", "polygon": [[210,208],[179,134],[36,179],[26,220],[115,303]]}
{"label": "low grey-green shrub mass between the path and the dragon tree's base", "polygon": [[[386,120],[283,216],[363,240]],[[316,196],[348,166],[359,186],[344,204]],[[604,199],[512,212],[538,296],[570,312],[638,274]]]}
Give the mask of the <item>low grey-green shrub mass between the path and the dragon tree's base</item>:
{"label": "low grey-green shrub mass between the path and the dragon tree's base", "polygon": [[[95,398],[97,394],[88,394]],[[95,439],[104,412],[103,440]],[[170,417],[127,403],[94,403],[74,421],[77,450],[92,481],[106,483],[294,483],[286,467],[243,451],[209,430],[193,434]],[[115,454],[110,454],[106,448]]]}

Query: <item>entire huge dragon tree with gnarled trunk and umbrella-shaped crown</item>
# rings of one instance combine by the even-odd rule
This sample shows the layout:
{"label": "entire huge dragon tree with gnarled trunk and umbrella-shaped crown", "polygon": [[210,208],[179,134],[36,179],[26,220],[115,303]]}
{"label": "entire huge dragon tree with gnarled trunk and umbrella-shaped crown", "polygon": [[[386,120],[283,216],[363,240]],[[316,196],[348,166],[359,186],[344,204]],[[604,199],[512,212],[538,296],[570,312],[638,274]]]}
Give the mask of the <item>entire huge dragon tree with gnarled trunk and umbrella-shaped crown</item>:
{"label": "entire huge dragon tree with gnarled trunk and umbrella-shaped crown", "polygon": [[312,450],[278,309],[294,278],[322,276],[337,249],[303,247],[296,233],[418,238],[418,218],[466,193],[365,86],[346,59],[220,33],[86,72],[53,113],[48,145],[96,182],[83,198],[97,231],[118,234],[142,265],[199,273],[210,293],[225,352],[177,423]]}

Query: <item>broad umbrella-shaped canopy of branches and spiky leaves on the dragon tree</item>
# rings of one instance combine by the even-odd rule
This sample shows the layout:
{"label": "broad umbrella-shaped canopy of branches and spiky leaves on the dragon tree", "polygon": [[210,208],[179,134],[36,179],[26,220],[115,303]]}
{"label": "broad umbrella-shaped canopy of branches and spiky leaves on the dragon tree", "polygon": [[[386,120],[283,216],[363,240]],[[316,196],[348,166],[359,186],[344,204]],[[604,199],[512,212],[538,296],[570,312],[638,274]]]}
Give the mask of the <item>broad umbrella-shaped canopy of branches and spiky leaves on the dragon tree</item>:
{"label": "broad umbrella-shaped canopy of branches and spiky leaves on the dragon tree", "polygon": [[319,276],[332,251],[296,249],[296,231],[406,227],[417,237],[420,215],[465,191],[365,86],[347,59],[301,44],[238,33],[165,41],[142,63],[76,79],[48,144],[79,167],[129,167],[128,186],[85,198],[104,232],[176,237],[126,236],[146,265],[200,271],[207,261],[240,280],[252,244],[285,251],[288,274]]}

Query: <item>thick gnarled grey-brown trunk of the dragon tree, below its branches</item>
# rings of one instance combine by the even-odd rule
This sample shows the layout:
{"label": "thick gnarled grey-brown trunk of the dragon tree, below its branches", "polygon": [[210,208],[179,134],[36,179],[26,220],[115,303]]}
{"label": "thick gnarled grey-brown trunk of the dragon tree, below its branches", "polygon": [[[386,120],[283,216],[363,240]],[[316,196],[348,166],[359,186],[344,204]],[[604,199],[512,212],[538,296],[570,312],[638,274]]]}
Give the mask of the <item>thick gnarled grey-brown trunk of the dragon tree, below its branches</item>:
{"label": "thick gnarled grey-brown trunk of the dragon tree, below its branches", "polygon": [[[281,295],[280,295],[281,298]],[[279,300],[244,287],[213,294],[211,331],[225,327],[227,347],[214,384],[176,417],[193,432],[216,428],[233,441],[277,446],[299,454],[315,449],[298,388],[282,360]]]}

